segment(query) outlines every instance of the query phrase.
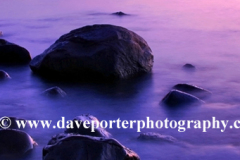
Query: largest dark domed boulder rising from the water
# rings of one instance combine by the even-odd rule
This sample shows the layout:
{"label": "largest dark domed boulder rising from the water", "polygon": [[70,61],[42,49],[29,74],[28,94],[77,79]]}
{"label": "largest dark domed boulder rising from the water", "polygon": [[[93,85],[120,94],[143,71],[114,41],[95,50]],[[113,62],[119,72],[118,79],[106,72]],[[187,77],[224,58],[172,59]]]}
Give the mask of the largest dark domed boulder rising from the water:
{"label": "largest dark domed boulder rising from the water", "polygon": [[30,63],[33,72],[68,79],[124,79],[151,72],[152,66],[153,55],[147,42],[113,25],[75,29]]}

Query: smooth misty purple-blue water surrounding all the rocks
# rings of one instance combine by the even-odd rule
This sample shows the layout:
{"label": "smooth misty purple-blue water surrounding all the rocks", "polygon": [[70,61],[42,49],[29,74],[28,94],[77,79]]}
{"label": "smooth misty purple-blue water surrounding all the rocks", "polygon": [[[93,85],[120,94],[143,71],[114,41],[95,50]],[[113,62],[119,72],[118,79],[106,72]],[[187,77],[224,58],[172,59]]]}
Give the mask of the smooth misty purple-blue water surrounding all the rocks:
{"label": "smooth misty purple-blue water surrounding all the rocks", "polygon": [[[123,11],[128,16],[111,15]],[[62,34],[85,25],[113,24],[142,36],[154,55],[152,74],[114,83],[63,83],[32,74],[28,66],[6,67],[12,79],[0,83],[0,116],[66,120],[92,114],[99,120],[240,119],[240,2],[237,0],[0,0],[1,38],[42,53]],[[194,72],[182,69],[185,63]],[[178,83],[212,92],[201,106],[169,109],[159,104]],[[49,99],[40,93],[53,86],[68,96]],[[142,129],[171,135],[185,145],[137,141],[137,129],[107,129],[142,160],[239,159],[240,131],[220,129]],[[64,129],[26,130],[38,146],[24,160],[42,159],[42,148]]]}

